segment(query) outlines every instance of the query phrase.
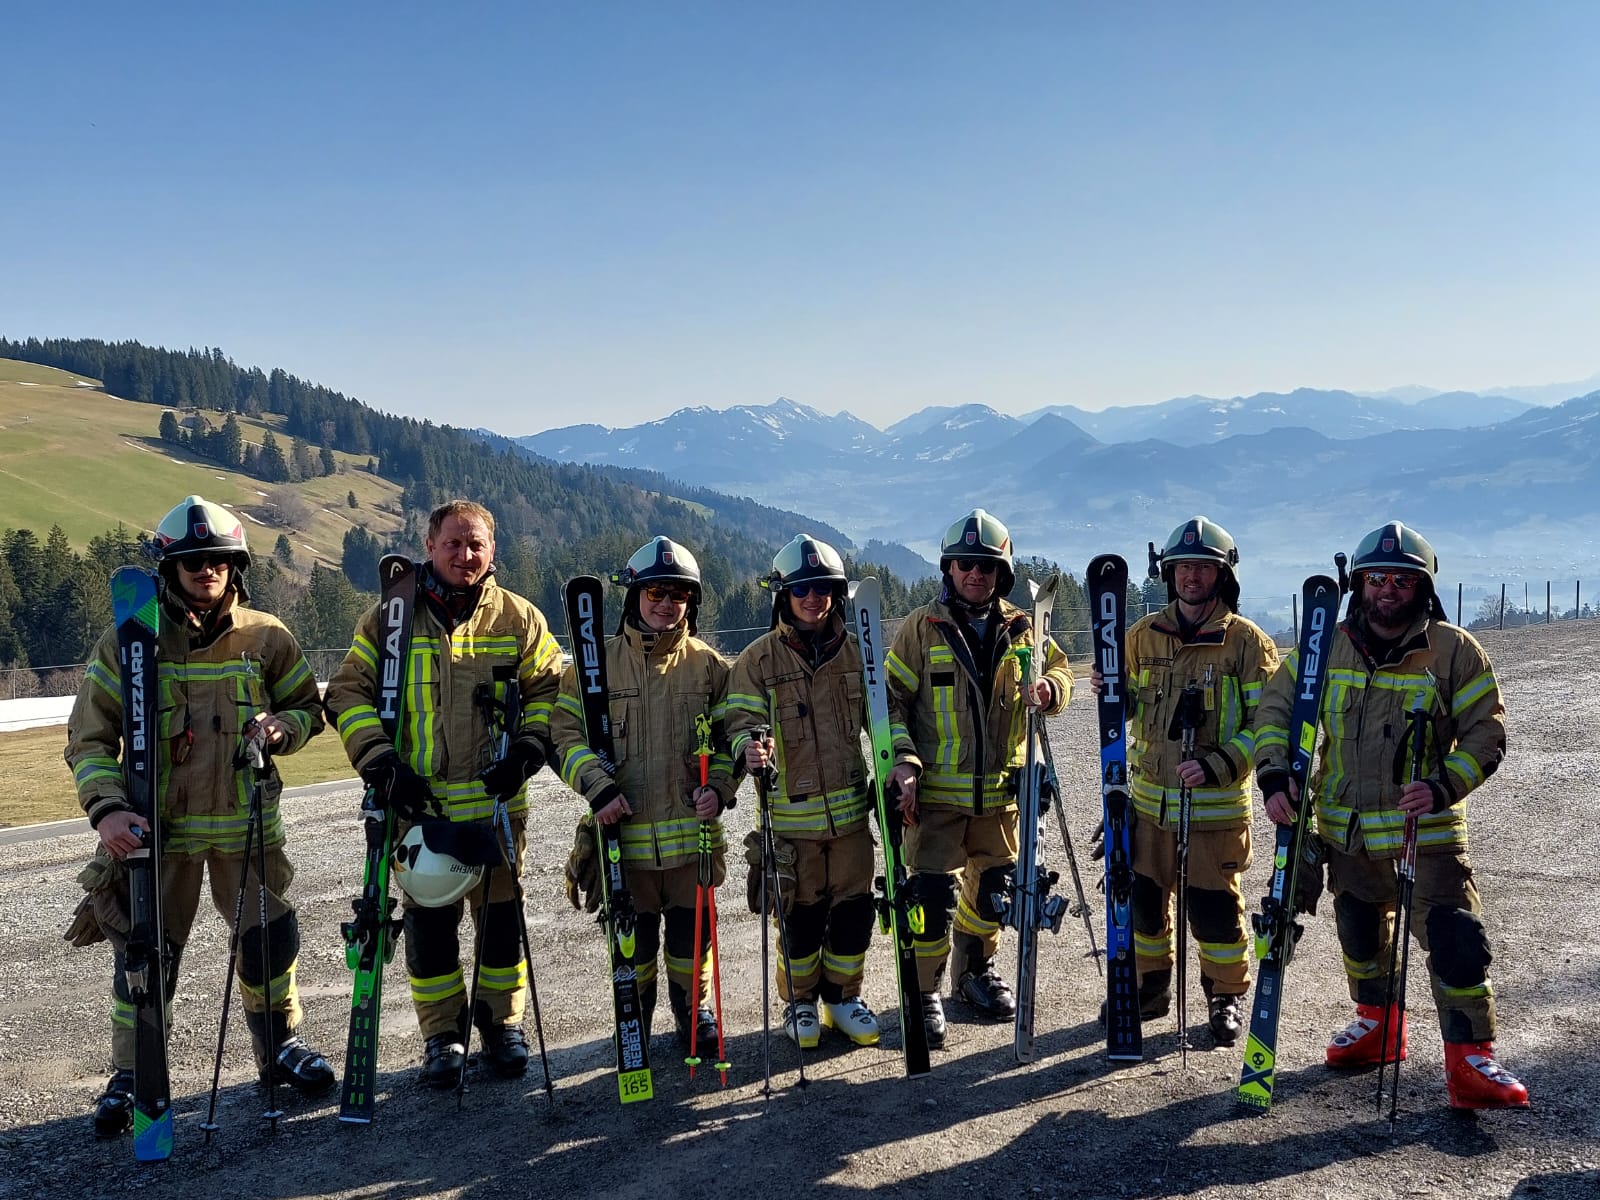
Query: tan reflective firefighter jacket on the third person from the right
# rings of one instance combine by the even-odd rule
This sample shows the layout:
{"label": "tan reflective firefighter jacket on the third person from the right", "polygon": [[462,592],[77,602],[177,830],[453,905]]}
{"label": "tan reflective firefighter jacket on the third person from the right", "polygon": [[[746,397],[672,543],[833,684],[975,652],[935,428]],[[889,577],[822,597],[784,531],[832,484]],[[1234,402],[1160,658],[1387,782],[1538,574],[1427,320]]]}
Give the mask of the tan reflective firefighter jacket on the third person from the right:
{"label": "tan reflective firefighter jacket on the third person from the right", "polygon": [[[885,659],[890,731],[894,763],[920,771],[918,803],[974,816],[1016,805],[1027,709],[1021,666],[1011,651],[1034,645],[1034,627],[1013,603],[1000,600],[997,610],[989,618],[995,627],[984,643],[986,662],[978,661],[942,600],[914,610],[894,632]],[[1038,674],[1053,691],[1045,712],[1062,712],[1072,699],[1072,669],[1054,640]]]}

